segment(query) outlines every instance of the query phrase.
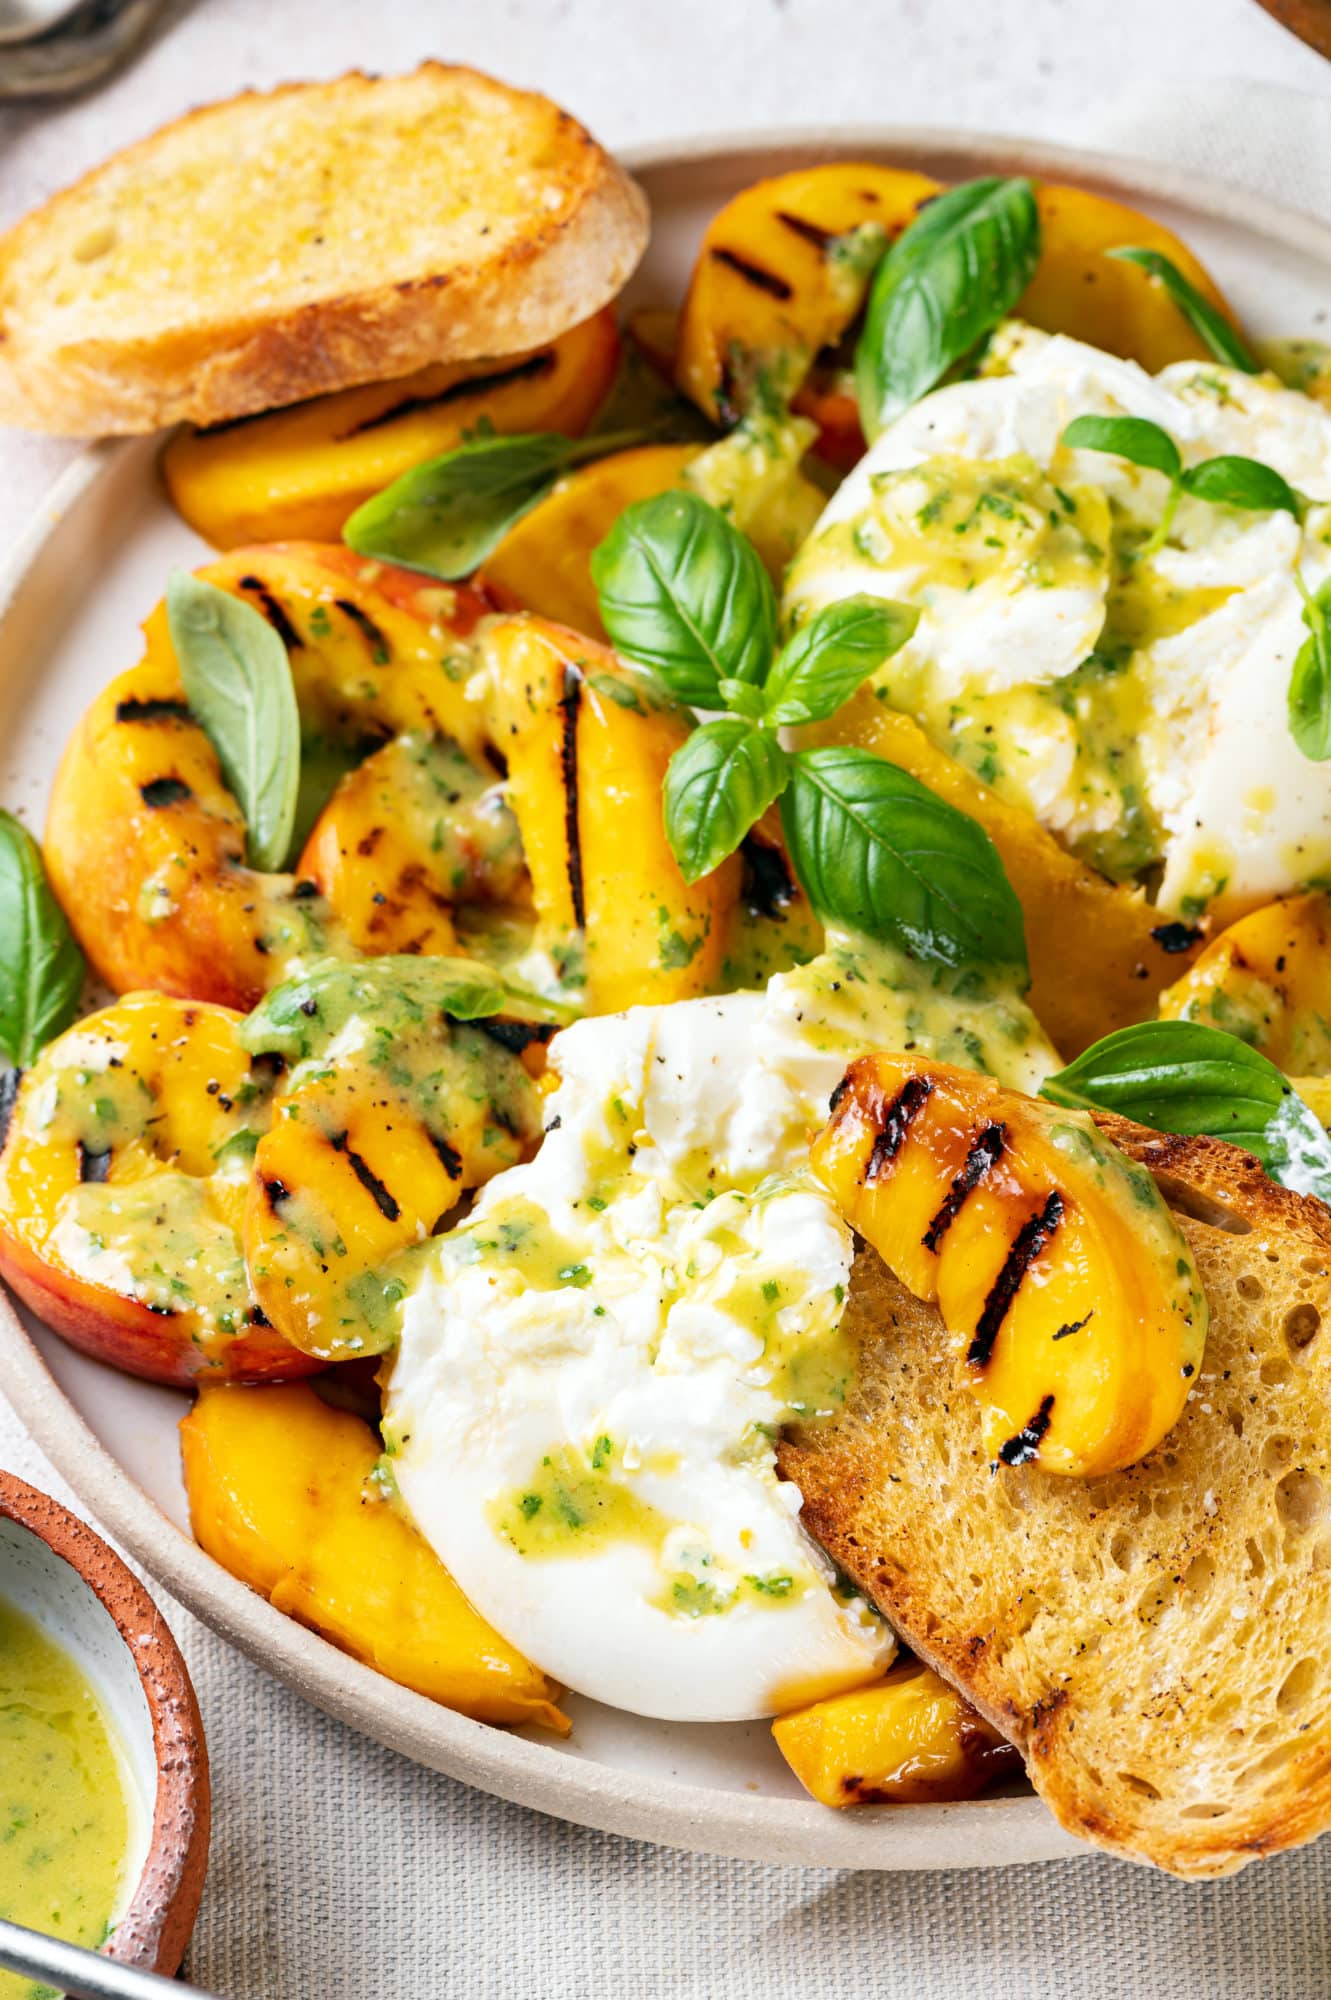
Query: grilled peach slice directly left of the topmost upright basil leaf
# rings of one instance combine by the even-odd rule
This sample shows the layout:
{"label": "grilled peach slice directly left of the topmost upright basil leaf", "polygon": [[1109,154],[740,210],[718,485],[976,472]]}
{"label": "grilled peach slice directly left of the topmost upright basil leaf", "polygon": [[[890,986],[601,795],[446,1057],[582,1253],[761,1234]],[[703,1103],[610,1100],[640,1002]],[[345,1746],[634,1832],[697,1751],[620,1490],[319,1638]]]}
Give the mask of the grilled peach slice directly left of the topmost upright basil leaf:
{"label": "grilled peach slice directly left of the topmost upright basil leaf", "polygon": [[675,380],[717,424],[789,402],[863,306],[885,242],[937,180],[839,160],[759,180],[707,224],[679,316]]}

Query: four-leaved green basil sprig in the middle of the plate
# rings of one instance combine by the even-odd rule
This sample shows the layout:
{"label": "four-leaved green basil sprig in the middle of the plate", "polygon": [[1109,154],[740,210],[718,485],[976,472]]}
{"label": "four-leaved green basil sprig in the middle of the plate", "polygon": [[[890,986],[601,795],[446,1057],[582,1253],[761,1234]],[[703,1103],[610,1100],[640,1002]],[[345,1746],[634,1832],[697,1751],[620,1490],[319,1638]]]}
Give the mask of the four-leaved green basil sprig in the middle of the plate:
{"label": "four-leaved green basil sprig in the middle of the plate", "polygon": [[777,730],[821,722],[891,658],[917,612],[829,604],[775,654],[775,596],[749,544],[695,494],[640,500],[592,558],[620,652],[679,700],[727,708],[666,774],[666,834],[687,882],[733,854],[781,800],[781,828],[823,920],[939,964],[1025,974],[1021,906],[989,836],[909,772],[847,746],[785,750]]}

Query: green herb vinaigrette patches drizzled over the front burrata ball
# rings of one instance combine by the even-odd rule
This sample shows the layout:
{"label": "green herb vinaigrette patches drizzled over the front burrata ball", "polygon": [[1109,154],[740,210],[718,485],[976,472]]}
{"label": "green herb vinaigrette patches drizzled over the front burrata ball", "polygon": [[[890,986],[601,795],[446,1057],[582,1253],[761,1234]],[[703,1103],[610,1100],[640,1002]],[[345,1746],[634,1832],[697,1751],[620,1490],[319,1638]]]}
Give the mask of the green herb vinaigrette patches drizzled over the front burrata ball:
{"label": "green herb vinaigrette patches drizzled over the front burrata ball", "polygon": [[[909,960],[889,946],[837,936],[811,964],[779,982],[783,1024],[805,1058],[831,1054],[849,1062],[865,1048],[921,1048],[929,1056],[987,1070],[1003,1082],[1033,1090],[1057,1068],[1035,1016],[1003,974],[951,970]],[[584,1142],[586,1192],[574,1202],[588,1212],[588,1228],[640,1186],[636,1160],[652,1146],[640,1106],[612,1096],[604,1124]],[[666,1308],[693,1298],[713,1304],[753,1336],[757,1354],[735,1362],[739,1378],[769,1390],[781,1420],[817,1422],[833,1416],[853,1382],[853,1348],[841,1326],[843,1290],[809,1302],[795,1272],[773,1270],[743,1234],[751,1204],[791,1192],[807,1170],[753,1176],[747,1184],[729,1170],[717,1178],[709,1150],[685,1150],[666,1170],[652,1168],[667,1206],[683,1204],[705,1216],[701,1240],[689,1238],[681,1262],[669,1262],[666,1238],[644,1246],[644,1284],[660,1276]],[[484,1222],[468,1224],[458,1238],[468,1258],[496,1274],[514,1272],[540,1290],[596,1288],[614,1292],[614,1248],[590,1248],[560,1234],[546,1210],[514,1198],[492,1208]],[[650,1258],[650,1262],[648,1262]],[[791,1306],[803,1310],[791,1312]],[[602,1314],[606,1306],[594,1304]],[[775,1426],[759,1424],[743,1452],[765,1458]],[[638,1488],[638,1476],[669,1474],[675,1464],[658,1458],[626,1460],[626,1440],[598,1434],[552,1446],[522,1484],[496,1494],[488,1506],[492,1528],[518,1554],[542,1560],[596,1556],[632,1542],[658,1558],[660,1588],[652,1602],[679,1618],[699,1618],[753,1602],[775,1606],[807,1588],[809,1576],[745,1572],[707,1546],[701,1530],[660,1512]]]}

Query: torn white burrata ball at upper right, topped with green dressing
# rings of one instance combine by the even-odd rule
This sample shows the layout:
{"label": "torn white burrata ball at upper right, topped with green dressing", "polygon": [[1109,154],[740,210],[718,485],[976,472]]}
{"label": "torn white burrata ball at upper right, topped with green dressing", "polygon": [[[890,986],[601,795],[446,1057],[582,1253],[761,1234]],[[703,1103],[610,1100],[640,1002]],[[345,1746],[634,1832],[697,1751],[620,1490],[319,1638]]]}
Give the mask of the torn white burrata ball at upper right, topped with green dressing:
{"label": "torn white burrata ball at upper right, topped with green dressing", "polygon": [[853,592],[921,608],[881,684],[987,782],[1115,874],[1159,864],[1165,914],[1229,920],[1331,868],[1331,768],[1285,696],[1307,638],[1295,568],[1331,572],[1331,512],[1185,500],[1133,556],[1167,482],[1069,452],[1083,414],[1161,424],[1185,464],[1237,452],[1331,500],[1331,412],[1201,362],[1133,362],[1029,328],[1007,374],[907,410],[829,502],[789,576],[805,616]]}

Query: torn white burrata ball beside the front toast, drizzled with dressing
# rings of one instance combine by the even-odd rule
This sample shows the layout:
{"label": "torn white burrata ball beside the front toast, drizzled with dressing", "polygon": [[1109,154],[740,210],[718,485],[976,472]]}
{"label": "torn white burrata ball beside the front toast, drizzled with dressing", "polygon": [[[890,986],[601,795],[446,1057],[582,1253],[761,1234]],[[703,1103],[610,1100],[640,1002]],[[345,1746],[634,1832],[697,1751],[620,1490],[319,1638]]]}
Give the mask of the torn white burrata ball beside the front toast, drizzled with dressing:
{"label": "torn white burrata ball beside the front toast, drizzled with dressing", "polygon": [[1033,1088],[1017,1000],[977,1006],[829,954],[556,1036],[548,1134],[426,1252],[386,1442],[414,1520],[542,1668],[640,1714],[771,1714],[871,1678],[893,1642],[839,1592],[775,1470],[831,1410],[851,1238],[807,1172],[849,1056],[915,1042]]}

